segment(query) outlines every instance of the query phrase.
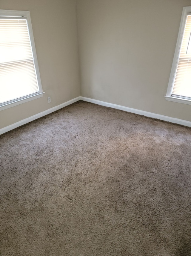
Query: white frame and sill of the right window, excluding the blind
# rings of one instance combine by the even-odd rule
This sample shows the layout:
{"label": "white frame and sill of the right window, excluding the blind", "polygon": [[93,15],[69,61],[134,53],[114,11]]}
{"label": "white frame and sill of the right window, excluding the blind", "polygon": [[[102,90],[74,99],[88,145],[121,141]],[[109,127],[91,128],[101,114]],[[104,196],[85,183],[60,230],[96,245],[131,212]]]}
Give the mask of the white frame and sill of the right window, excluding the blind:
{"label": "white frame and sill of the right window, excluding the blind", "polygon": [[178,103],[184,103],[184,104],[191,105],[191,99],[189,99],[189,98],[184,99],[184,98],[178,98],[178,97],[174,97],[174,96],[172,97],[175,73],[176,73],[176,69],[178,66],[178,60],[179,60],[179,55],[180,55],[180,51],[181,51],[181,43],[183,40],[184,28],[186,25],[188,13],[191,13],[191,6],[183,7],[181,23],[180,23],[180,28],[179,28],[179,32],[178,32],[178,39],[177,39],[177,43],[176,43],[175,54],[174,54],[174,58],[173,58],[173,62],[172,62],[172,69],[170,72],[170,79],[169,79],[168,88],[167,88],[167,94],[164,97],[166,98],[166,100],[169,100],[169,101],[174,101],[174,102],[178,102]]}

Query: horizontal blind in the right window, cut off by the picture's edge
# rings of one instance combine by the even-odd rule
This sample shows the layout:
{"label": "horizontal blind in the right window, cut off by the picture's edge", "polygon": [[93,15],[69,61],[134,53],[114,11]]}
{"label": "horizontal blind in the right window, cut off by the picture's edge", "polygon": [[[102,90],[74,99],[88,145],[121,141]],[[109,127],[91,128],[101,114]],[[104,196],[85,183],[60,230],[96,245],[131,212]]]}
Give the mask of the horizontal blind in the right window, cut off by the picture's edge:
{"label": "horizontal blind in the right window, cut off by the picture's edge", "polygon": [[191,14],[186,19],[172,97],[191,98]]}

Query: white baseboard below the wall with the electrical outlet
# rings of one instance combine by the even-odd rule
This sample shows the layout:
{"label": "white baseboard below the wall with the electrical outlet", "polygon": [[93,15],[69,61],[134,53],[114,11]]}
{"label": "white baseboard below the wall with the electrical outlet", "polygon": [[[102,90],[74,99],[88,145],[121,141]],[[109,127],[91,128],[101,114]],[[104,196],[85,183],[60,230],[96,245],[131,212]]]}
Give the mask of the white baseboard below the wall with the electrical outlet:
{"label": "white baseboard below the wall with the electrical outlet", "polygon": [[27,123],[29,123],[31,121],[34,121],[35,119],[38,119],[38,118],[43,117],[45,115],[48,115],[48,114],[50,114],[50,113],[52,113],[52,112],[54,112],[54,111],[56,111],[58,109],[62,109],[62,108],[66,107],[66,106],[68,106],[68,105],[70,105],[70,104],[72,104],[72,103],[74,103],[74,102],[76,102],[78,100],[80,100],[80,96],[75,98],[75,99],[72,99],[72,100],[69,100],[67,102],[64,102],[64,103],[62,103],[62,104],[60,104],[58,106],[55,106],[55,107],[53,107],[51,109],[47,109],[47,110],[45,110],[43,112],[40,112],[40,113],[38,113],[36,115],[33,115],[33,116],[29,117],[29,118],[25,118],[25,119],[23,119],[23,120],[21,120],[19,122],[16,122],[14,124],[11,124],[11,125],[7,126],[7,127],[1,128],[0,129],[0,135],[5,133],[5,132],[9,132],[10,130],[13,130],[13,129],[15,129],[15,128],[23,125],[23,124],[27,124]]}

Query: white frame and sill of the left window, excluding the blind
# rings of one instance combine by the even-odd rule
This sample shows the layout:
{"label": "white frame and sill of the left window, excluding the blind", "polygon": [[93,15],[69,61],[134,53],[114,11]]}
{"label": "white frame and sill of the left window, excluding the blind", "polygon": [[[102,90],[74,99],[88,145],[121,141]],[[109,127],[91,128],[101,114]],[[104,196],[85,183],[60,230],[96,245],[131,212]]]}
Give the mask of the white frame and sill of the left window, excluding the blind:
{"label": "white frame and sill of the left window, excluding the blind", "polygon": [[38,87],[39,87],[39,92],[36,94],[27,95],[25,97],[15,99],[11,102],[5,102],[3,105],[0,106],[0,111],[1,111],[4,109],[25,103],[27,101],[35,100],[37,98],[43,97],[44,92],[42,90],[40,72],[39,72],[39,68],[38,68],[36,48],[35,48],[35,42],[34,42],[34,37],[33,37],[33,29],[32,29],[32,23],[31,23],[31,19],[30,19],[30,12],[29,11],[18,11],[18,10],[0,10],[0,16],[26,17],[28,31],[29,31],[29,37],[30,37],[30,43],[31,43],[32,52],[33,52],[33,60],[34,60],[34,65],[35,65],[35,70],[36,70],[37,81],[38,81]]}

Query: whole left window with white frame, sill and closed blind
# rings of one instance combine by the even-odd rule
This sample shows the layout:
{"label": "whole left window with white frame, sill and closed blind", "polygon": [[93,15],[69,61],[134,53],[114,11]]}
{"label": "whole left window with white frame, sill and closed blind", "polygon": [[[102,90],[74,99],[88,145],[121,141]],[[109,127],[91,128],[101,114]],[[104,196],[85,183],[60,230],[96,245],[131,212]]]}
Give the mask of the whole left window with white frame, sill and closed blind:
{"label": "whole left window with white frame, sill and closed blind", "polygon": [[0,10],[0,109],[42,96],[30,13]]}

